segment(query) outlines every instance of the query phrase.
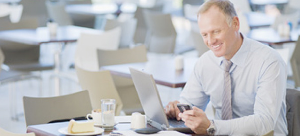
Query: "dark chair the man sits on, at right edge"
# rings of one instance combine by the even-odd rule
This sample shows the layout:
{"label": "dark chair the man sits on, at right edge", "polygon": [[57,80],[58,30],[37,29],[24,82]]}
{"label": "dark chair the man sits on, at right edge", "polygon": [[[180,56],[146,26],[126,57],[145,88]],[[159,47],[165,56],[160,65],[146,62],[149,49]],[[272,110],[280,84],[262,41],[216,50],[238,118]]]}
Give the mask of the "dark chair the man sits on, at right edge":
{"label": "dark chair the man sits on, at right edge", "polygon": [[286,93],[288,136],[300,136],[300,91],[287,89]]}

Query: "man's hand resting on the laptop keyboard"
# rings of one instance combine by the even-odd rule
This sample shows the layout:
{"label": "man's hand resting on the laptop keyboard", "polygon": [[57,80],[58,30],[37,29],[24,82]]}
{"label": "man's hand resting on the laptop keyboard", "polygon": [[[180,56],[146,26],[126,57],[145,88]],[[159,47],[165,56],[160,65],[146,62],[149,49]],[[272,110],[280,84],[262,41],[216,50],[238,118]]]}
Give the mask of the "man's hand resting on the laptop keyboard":
{"label": "man's hand resting on the laptop keyboard", "polygon": [[177,104],[180,103],[179,101],[173,101],[169,102],[169,104],[165,107],[165,113],[169,119],[177,119],[181,120],[181,118],[178,116],[180,113],[180,110],[177,107]]}

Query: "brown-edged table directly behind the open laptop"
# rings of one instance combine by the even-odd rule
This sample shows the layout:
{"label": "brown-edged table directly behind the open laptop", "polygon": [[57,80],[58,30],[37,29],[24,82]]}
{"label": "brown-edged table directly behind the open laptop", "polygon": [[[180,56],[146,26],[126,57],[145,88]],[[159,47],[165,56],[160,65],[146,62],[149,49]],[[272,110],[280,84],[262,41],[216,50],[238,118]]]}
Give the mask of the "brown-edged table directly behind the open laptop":
{"label": "brown-edged table directly behind the open laptop", "polygon": [[129,63],[103,66],[101,70],[109,70],[113,75],[131,78],[129,67],[144,70],[153,74],[157,84],[171,88],[184,87],[194,69],[197,58],[185,58],[183,70],[175,70],[174,58],[159,59],[156,57],[144,63]]}

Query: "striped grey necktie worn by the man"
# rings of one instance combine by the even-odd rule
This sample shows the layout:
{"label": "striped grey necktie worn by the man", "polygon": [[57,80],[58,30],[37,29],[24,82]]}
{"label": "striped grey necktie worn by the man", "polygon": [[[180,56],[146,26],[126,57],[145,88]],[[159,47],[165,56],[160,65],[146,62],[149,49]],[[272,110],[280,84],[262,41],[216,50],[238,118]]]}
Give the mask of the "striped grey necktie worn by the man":
{"label": "striped grey necktie worn by the man", "polygon": [[224,91],[222,95],[222,120],[232,119],[232,107],[231,107],[231,79],[230,79],[230,67],[232,62],[230,60],[223,60],[224,65]]}

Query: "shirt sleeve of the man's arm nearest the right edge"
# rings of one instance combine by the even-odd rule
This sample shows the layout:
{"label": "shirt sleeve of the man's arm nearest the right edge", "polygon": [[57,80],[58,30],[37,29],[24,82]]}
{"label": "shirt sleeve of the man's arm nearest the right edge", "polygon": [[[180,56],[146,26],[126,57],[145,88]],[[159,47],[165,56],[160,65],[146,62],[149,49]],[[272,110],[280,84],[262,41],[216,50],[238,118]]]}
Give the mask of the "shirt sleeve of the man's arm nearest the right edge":
{"label": "shirt sleeve of the man's arm nearest the right edge", "polygon": [[274,130],[280,112],[285,112],[285,64],[274,61],[263,65],[259,75],[254,114],[231,120],[214,120],[215,135],[260,136]]}

